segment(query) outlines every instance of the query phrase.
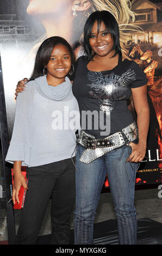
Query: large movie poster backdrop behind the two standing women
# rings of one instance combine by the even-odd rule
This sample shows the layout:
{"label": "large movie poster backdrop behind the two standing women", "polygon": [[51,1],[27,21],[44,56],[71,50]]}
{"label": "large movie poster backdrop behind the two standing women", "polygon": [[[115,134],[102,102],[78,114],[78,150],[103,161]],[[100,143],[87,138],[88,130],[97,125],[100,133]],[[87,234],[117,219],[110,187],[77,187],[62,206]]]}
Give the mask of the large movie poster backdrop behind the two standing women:
{"label": "large movie poster backdrop behind the two standing women", "polygon": [[[10,139],[15,116],[16,84],[32,74],[35,54],[41,42],[49,36],[63,36],[73,46],[78,58],[84,54],[82,33],[87,17],[95,10],[110,10],[119,21],[121,44],[126,48],[124,54],[139,63],[148,78],[151,123],[146,157],[141,162],[136,176],[136,185],[138,185],[162,181],[162,12],[161,2],[158,0],[130,2],[125,0],[1,0],[0,51]],[[129,108],[136,118],[131,101]],[[1,170],[1,179],[2,176]],[[107,178],[104,186],[109,187]]]}

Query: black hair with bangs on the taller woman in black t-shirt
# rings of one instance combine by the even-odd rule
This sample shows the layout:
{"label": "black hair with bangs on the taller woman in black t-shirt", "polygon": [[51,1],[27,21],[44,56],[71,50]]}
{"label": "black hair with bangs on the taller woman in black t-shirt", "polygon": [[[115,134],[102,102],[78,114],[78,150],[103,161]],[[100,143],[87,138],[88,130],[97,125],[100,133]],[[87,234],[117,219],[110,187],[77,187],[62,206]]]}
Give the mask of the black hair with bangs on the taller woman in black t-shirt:
{"label": "black hair with bangs on the taller woman in black t-shirt", "polygon": [[88,17],[84,26],[83,46],[88,58],[92,59],[92,57],[94,57],[94,54],[92,54],[92,48],[90,46],[89,39],[90,39],[90,34],[92,32],[92,27],[94,26],[95,21],[97,21],[97,24],[98,24],[98,33],[99,33],[99,28],[101,26],[101,23],[103,22],[105,25],[105,28],[108,30],[111,37],[113,38],[114,40],[113,50],[115,49],[115,54],[113,57],[115,57],[117,53],[122,55],[121,47],[120,47],[119,25],[115,17],[111,13],[109,13],[109,11],[95,11]]}

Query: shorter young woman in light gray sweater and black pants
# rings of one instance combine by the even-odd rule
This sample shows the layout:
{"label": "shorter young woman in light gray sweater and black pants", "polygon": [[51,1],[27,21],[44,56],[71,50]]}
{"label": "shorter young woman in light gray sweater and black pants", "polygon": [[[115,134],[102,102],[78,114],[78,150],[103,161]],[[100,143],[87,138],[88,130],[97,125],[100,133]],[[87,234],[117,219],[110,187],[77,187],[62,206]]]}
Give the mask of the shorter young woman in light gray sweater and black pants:
{"label": "shorter young woman in light gray sweater and black pants", "polygon": [[[79,124],[78,103],[70,81],[74,61],[65,39],[46,39],[36,54],[26,91],[17,96],[13,136],[5,160],[14,164],[14,204],[19,201],[21,186],[28,191],[16,244],[36,243],[49,198],[51,243],[70,243],[70,215],[75,197],[71,156]],[[21,166],[27,167],[28,187]]]}

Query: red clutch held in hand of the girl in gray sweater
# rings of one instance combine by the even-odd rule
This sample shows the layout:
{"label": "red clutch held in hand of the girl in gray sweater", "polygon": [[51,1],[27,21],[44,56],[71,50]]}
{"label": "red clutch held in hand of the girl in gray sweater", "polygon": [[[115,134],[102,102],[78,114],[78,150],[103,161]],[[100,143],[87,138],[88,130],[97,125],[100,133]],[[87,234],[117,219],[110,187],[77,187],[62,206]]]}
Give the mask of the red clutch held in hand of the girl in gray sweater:
{"label": "red clutch held in hand of the girl in gray sweater", "polygon": [[[14,186],[14,174],[13,174],[13,169],[11,169],[12,172],[12,181],[13,181],[13,186]],[[22,175],[25,177],[26,179],[26,184],[28,185],[28,179],[26,177],[26,172],[21,172]],[[23,186],[21,186],[20,191],[18,193],[18,199],[19,199],[19,204],[17,203],[17,201],[14,204],[14,209],[21,209],[24,206],[24,200],[26,198],[26,190],[24,189]]]}

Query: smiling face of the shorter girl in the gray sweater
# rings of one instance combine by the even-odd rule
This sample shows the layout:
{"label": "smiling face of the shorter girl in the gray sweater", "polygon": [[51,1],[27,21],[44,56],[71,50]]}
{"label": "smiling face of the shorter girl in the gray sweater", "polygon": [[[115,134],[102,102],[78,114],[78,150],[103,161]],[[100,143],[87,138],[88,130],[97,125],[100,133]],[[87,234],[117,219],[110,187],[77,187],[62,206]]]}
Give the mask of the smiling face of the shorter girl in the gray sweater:
{"label": "smiling face of the shorter girl in the gray sweater", "polygon": [[71,54],[65,45],[53,48],[47,69],[48,84],[56,86],[65,81],[65,76],[71,69]]}

